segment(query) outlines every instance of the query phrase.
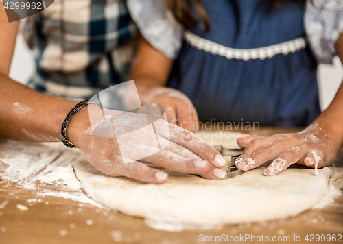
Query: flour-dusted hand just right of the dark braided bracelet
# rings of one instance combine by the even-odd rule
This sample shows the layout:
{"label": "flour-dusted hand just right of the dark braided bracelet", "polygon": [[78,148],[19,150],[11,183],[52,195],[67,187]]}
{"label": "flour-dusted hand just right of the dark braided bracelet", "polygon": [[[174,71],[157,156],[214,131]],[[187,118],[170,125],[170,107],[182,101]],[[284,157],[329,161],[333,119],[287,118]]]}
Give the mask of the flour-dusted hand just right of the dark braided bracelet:
{"label": "flour-dusted hand just right of the dark braided bracelet", "polygon": [[[115,116],[120,113],[112,111],[111,115]],[[139,121],[141,115],[126,112],[121,123],[113,126],[131,130],[130,126],[134,127],[135,121]],[[129,123],[130,121],[134,123]],[[226,178],[226,171],[217,168],[224,166],[224,158],[196,134],[171,125],[163,119],[158,119],[154,125],[158,132],[158,141],[166,147],[155,154],[128,163],[123,162],[122,155],[140,158],[140,155],[144,155],[146,151],[153,150],[150,142],[156,140],[155,134],[147,134],[142,130],[134,136],[128,136],[126,138],[127,146],[119,149],[116,138],[100,138],[93,134],[88,110],[82,108],[71,119],[67,136],[73,145],[81,149],[88,162],[107,175],[126,176],[154,184],[166,182],[168,174],[145,164],[148,163],[174,171],[197,174],[207,179],[222,180]],[[170,133],[165,128],[169,128]]]}

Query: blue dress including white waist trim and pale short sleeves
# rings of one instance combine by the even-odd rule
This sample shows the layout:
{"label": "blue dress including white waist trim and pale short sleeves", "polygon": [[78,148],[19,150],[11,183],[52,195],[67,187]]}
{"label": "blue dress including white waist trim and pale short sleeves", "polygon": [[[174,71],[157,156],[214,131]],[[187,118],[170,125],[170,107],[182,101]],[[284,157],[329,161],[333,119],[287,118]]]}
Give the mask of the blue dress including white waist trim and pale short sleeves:
{"label": "blue dress including white waist trim and pale short sleeves", "polygon": [[[127,3],[142,36],[174,60],[167,85],[191,99],[200,121],[306,126],[320,114],[317,64],[336,54],[343,1],[202,0],[211,32],[185,30],[163,1]],[[299,39],[303,47],[275,51]]]}

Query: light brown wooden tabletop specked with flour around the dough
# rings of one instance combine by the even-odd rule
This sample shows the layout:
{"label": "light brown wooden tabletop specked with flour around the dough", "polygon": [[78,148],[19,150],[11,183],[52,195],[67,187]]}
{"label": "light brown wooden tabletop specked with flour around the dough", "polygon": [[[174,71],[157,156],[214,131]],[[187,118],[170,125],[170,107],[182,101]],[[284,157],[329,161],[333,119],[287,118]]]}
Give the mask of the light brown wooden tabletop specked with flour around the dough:
{"label": "light brown wooden tabletop specked with flour around the dough", "polygon": [[[298,130],[294,128],[260,128],[260,130],[250,133],[269,136]],[[336,164],[342,163],[342,158],[343,154],[336,160]],[[342,196],[335,200],[335,204],[324,209],[309,210],[297,217],[281,221],[228,225],[214,230],[167,232],[148,227],[143,219],[128,217],[118,212],[100,209],[91,204],[80,204],[61,197],[41,197],[41,202],[32,203],[28,211],[16,208],[17,204],[27,205],[27,199],[35,198],[35,194],[34,191],[18,189],[8,183],[5,184],[0,179],[0,204],[8,200],[7,206],[3,209],[0,208],[1,244],[228,243],[230,241],[218,241],[218,239],[206,242],[201,241],[201,238],[225,236],[230,240],[230,237],[246,234],[255,236],[255,238],[268,236],[270,240],[273,236],[276,238],[289,236],[288,243],[294,243],[294,236],[300,235],[301,243],[307,243],[304,240],[307,234],[343,234]],[[267,204],[265,208],[268,208]]]}

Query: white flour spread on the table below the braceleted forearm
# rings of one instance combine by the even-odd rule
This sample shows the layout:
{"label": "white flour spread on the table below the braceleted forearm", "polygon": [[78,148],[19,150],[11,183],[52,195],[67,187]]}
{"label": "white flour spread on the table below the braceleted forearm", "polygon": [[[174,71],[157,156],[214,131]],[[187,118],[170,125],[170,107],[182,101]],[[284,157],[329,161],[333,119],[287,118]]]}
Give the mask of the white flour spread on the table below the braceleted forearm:
{"label": "white flour spread on the table below the braceleted forearm", "polygon": [[[72,164],[82,157],[79,150],[68,149],[62,143],[2,141],[0,178],[3,182],[15,182],[18,189],[32,190],[37,197],[63,197],[101,208],[83,193],[80,181],[75,177]],[[28,204],[34,202],[42,200],[27,200]],[[0,208],[6,204],[1,203]]]}

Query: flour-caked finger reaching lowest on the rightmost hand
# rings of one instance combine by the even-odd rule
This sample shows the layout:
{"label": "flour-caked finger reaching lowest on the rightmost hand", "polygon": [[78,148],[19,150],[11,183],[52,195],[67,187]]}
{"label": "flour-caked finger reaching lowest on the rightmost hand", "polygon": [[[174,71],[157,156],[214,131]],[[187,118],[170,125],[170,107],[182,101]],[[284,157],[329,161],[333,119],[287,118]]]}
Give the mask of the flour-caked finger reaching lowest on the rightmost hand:
{"label": "flour-caked finger reaching lowest on the rightmost hand", "polygon": [[299,146],[292,147],[274,159],[273,162],[263,171],[263,173],[265,176],[277,175],[304,157],[305,152],[301,151]]}

